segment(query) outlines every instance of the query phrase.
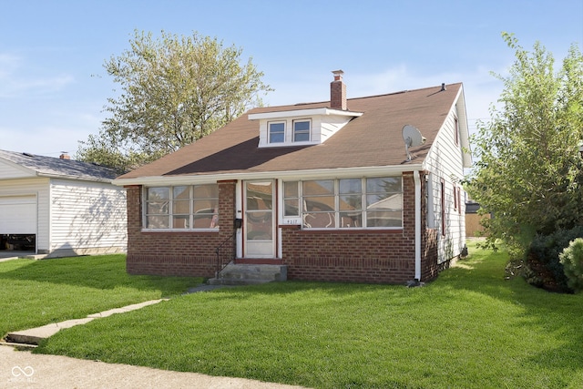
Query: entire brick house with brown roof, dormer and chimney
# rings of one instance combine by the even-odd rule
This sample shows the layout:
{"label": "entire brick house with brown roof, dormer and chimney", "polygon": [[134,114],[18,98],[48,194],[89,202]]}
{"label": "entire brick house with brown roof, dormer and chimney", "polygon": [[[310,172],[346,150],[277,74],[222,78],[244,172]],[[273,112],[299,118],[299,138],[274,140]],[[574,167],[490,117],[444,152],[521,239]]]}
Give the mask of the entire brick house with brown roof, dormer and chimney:
{"label": "entire brick house with brown roof, dormer and chimney", "polygon": [[[130,273],[211,277],[219,261],[292,280],[427,281],[465,246],[462,84],[258,107],[114,181]],[[426,138],[407,160],[402,130]],[[230,241],[232,237],[232,242]],[[218,251],[220,249],[220,251]]]}

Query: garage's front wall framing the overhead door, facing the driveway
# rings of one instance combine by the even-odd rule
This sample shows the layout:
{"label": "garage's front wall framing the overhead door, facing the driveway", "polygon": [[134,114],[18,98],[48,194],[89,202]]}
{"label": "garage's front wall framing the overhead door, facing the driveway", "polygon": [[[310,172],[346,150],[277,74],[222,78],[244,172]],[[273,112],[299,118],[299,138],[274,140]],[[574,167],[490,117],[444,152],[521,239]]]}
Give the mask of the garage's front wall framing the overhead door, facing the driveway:
{"label": "garage's front wall framing the overhead door, facing the driveway", "polygon": [[[2,166],[3,164],[0,164]],[[49,179],[0,180],[0,196],[36,196],[36,251],[49,250]]]}

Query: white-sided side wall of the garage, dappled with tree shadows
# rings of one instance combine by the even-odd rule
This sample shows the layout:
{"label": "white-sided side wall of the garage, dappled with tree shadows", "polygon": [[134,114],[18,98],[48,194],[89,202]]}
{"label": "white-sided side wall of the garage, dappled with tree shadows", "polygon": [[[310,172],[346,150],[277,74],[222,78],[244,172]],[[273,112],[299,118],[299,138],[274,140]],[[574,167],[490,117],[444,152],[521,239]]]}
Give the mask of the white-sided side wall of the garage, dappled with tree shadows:
{"label": "white-sided side wall of the garage, dappled with tree shadows", "polygon": [[52,179],[52,255],[127,249],[126,191],[107,183]]}

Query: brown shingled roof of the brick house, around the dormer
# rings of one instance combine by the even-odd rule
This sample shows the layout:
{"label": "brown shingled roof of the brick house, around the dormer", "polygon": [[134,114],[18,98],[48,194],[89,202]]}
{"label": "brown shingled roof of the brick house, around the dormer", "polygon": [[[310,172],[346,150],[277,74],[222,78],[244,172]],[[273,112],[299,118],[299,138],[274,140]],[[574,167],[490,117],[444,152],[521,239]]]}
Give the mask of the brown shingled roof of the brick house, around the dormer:
{"label": "brown shingled roof of the brick house, around the dormer", "polygon": [[362,112],[320,145],[258,148],[259,122],[250,114],[330,107],[330,102],[253,108],[209,136],[119,177],[199,176],[249,172],[304,171],[394,166],[405,163],[402,129],[419,128],[424,146],[414,148],[409,164],[420,164],[455,104],[461,83],[347,99],[347,109]]}

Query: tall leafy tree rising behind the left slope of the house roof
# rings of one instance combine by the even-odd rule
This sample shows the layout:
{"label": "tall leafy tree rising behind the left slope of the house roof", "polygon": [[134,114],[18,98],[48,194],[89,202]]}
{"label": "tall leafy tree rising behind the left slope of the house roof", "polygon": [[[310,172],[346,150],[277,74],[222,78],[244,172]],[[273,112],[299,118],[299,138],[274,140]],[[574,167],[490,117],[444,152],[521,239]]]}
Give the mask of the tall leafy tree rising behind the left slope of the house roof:
{"label": "tall leafy tree rising behind the left slope of the house roof", "polygon": [[242,50],[216,38],[134,32],[131,48],[104,67],[121,85],[97,136],[80,142],[77,159],[120,171],[137,168],[202,138],[253,106],[271,88]]}

